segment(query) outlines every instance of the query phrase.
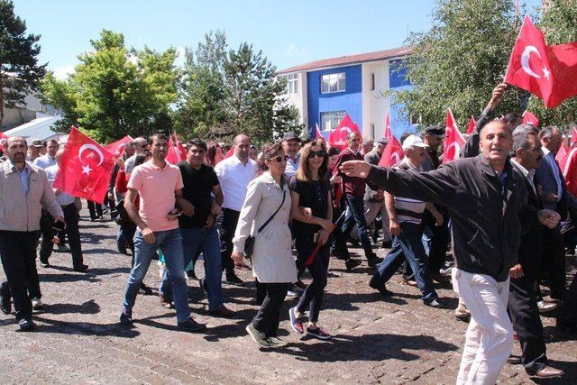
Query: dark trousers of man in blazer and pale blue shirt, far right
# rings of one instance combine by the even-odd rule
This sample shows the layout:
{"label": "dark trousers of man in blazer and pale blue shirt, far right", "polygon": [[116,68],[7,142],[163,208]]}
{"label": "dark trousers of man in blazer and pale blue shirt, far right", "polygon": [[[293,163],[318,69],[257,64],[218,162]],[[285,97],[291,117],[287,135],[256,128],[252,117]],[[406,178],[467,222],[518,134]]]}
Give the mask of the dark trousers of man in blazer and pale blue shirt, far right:
{"label": "dark trousers of man in blazer and pale blue shirt, far right", "polygon": [[565,274],[565,243],[561,235],[561,227],[545,229],[543,259],[541,268],[547,272],[549,279],[550,297],[563,300],[567,277]]}

